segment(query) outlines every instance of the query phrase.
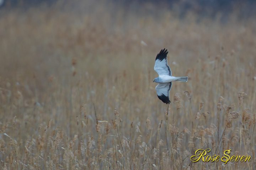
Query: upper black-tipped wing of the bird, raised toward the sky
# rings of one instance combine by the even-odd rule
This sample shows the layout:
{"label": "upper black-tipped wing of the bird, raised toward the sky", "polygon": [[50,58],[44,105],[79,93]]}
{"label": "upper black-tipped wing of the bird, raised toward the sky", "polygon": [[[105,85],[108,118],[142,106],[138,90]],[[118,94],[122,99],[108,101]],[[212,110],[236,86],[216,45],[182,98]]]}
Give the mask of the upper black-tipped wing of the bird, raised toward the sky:
{"label": "upper black-tipped wing of the bird, raised toward the sky", "polygon": [[158,75],[169,75],[171,76],[171,69],[167,63],[167,49],[162,49],[156,56],[154,70]]}

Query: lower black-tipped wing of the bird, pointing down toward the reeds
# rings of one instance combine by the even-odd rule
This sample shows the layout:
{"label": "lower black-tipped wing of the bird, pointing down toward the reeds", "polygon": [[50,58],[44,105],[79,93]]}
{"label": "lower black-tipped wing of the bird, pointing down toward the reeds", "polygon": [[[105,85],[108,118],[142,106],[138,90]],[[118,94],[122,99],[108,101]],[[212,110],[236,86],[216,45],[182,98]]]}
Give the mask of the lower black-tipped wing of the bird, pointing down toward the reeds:
{"label": "lower black-tipped wing of the bird, pointing down toward the reeds", "polygon": [[158,95],[158,98],[166,103],[166,104],[170,104],[171,101],[169,99],[169,92],[171,90],[171,82],[170,83],[159,83],[156,86],[156,94]]}

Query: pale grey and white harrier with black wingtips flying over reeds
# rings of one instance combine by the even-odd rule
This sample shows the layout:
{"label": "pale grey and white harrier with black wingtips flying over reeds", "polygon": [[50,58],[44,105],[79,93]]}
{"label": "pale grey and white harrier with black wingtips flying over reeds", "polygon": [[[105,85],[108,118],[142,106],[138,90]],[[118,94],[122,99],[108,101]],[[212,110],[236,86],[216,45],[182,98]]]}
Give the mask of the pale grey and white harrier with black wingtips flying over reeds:
{"label": "pale grey and white harrier with black wingtips flying over reeds", "polygon": [[169,92],[171,90],[172,81],[187,82],[188,77],[174,77],[172,76],[171,69],[167,63],[167,49],[162,49],[156,56],[154,70],[158,73],[158,77],[153,80],[155,83],[159,83],[155,89],[158,98],[166,103],[170,104]]}

